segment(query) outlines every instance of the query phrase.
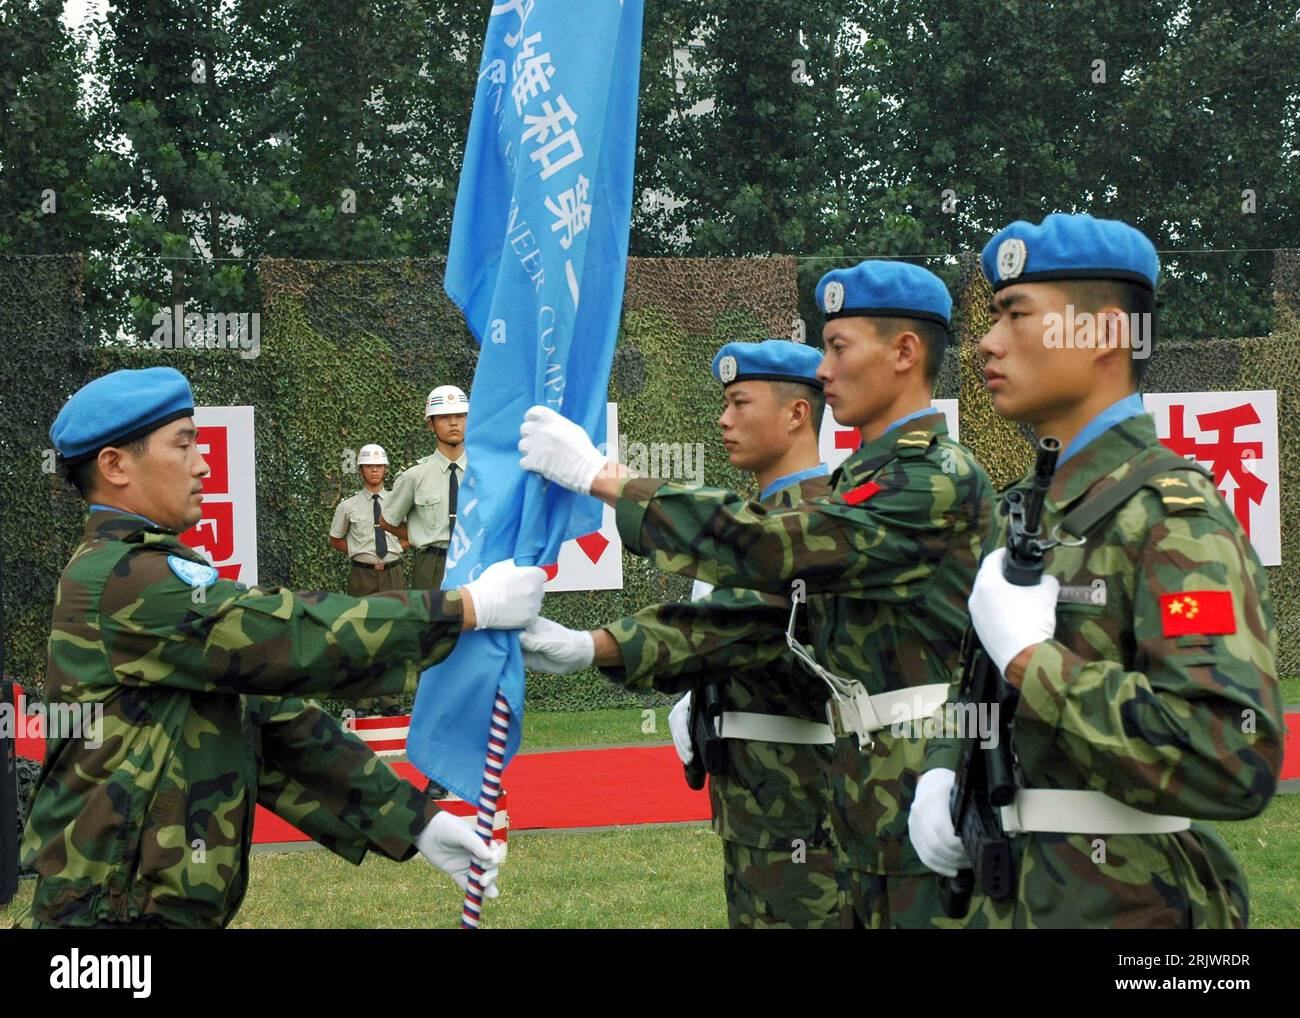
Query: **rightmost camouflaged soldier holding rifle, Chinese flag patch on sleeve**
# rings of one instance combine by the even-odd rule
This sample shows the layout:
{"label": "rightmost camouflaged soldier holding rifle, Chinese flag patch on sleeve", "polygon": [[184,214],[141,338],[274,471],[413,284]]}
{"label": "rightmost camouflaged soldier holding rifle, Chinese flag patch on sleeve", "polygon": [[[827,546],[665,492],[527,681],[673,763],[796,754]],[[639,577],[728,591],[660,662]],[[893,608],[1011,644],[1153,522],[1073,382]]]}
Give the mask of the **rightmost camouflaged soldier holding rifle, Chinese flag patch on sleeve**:
{"label": "rightmost camouflaged soldier holding rifle, Chinese flag patch on sleeve", "polygon": [[[1213,480],[1157,441],[1136,394],[1156,250],[1126,224],[1053,215],[994,235],[983,269],[993,404],[1063,443],[1044,530],[1065,521],[1067,543],[1048,551],[1043,582],[1014,586],[998,514],[971,597],[989,658],[1019,690],[1022,790],[1010,823],[1004,810],[1018,833],[1015,893],[976,898],[970,922],[1245,926],[1245,876],[1200,820],[1254,816],[1274,792],[1274,615]],[[1061,321],[1048,316],[1070,311],[1095,316],[1095,339],[1045,342]],[[948,807],[954,750],[932,744],[913,810],[913,842],[948,874],[968,865]]]}

